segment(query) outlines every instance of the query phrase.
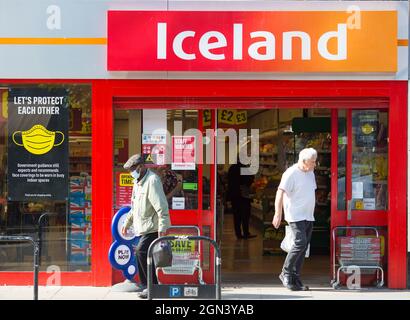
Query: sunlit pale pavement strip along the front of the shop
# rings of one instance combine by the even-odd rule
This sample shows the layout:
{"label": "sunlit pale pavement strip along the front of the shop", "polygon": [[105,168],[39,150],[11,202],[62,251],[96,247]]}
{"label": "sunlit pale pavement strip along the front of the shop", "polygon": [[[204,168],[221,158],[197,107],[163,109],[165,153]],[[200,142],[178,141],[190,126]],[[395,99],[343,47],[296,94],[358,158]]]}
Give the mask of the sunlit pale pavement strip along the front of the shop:
{"label": "sunlit pale pavement strip along the front of the shop", "polygon": [[[222,300],[410,300],[410,290],[363,288],[334,290],[311,287],[310,291],[289,291],[280,285],[222,286]],[[135,292],[115,287],[40,286],[39,300],[140,300]],[[0,300],[32,300],[32,286],[0,286]]]}

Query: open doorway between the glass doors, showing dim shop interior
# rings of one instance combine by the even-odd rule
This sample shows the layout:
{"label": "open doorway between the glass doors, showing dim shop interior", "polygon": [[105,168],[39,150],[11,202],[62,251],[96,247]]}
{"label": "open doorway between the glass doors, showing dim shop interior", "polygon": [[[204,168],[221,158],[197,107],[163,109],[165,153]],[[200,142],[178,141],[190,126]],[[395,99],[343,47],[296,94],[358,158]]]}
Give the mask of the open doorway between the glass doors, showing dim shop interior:
{"label": "open doorway between the glass doors, showing dim shop interior", "polygon": [[[316,221],[310,257],[305,260],[302,276],[310,284],[328,285],[331,250],[331,110],[286,108],[248,109],[240,112],[246,115],[246,121],[229,126],[224,121],[226,113],[219,110],[218,128],[225,132],[233,129],[238,137],[240,130],[246,130],[247,141],[238,139],[237,147],[238,150],[245,147],[250,155],[252,146],[255,147],[257,143],[258,155],[256,159],[252,159],[258,162],[258,168],[253,175],[237,177],[236,165],[228,162],[226,150],[229,146],[226,139],[226,161],[224,164],[218,161],[217,173],[217,197],[224,208],[223,219],[220,219],[223,224],[218,225],[222,235],[223,282],[280,283],[277,275],[286,257],[280,243],[286,222],[283,221],[279,229],[271,224],[275,194],[283,172],[297,162],[299,152],[303,148],[313,147],[318,152],[315,169],[318,187]],[[252,140],[256,132],[259,135],[257,141]],[[218,149],[217,155],[220,156]],[[243,194],[235,192],[238,184],[248,184],[249,200],[241,199]],[[238,215],[245,221],[239,222]]]}

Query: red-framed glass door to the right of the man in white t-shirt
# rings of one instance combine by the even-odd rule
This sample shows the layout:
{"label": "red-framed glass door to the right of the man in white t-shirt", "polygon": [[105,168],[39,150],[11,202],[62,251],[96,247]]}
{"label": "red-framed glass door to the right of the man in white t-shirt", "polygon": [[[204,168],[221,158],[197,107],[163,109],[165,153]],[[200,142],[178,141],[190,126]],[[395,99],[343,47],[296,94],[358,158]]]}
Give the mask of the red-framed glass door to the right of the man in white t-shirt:
{"label": "red-framed glass door to the right of the man in white t-shirt", "polygon": [[[388,116],[387,109],[332,111],[332,268],[359,259],[386,271]],[[372,237],[379,250],[358,250],[359,240]],[[373,271],[364,278],[371,279]]]}

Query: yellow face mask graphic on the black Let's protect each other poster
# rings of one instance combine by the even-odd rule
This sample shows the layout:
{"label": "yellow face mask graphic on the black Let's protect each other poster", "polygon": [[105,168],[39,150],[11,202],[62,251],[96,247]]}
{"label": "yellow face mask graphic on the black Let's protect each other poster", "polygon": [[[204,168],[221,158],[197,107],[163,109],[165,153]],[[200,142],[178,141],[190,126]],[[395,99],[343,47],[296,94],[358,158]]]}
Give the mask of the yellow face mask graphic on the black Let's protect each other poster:
{"label": "yellow face mask graphic on the black Let's protect each other poster", "polygon": [[[16,135],[21,133],[21,140],[23,143],[16,141]],[[61,134],[61,141],[54,144],[56,134]],[[34,125],[27,131],[16,131],[13,133],[13,141],[18,146],[24,146],[24,148],[36,155],[41,155],[49,152],[53,147],[59,146],[64,141],[64,134],[61,131],[48,131],[41,124]]]}

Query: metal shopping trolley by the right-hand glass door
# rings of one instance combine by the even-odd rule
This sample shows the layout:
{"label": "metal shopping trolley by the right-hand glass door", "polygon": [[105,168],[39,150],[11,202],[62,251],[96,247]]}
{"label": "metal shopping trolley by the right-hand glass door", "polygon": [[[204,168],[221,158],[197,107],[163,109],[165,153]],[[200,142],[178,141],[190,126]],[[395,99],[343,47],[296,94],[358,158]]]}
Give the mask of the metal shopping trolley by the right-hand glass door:
{"label": "metal shopping trolley by the right-hand glass door", "polygon": [[[340,230],[372,230],[372,235],[346,235],[336,237]],[[347,233],[350,234],[350,233]],[[381,261],[381,238],[375,227],[335,227],[332,230],[333,244],[333,279],[331,285],[334,289],[340,288],[340,272],[350,268],[362,270],[376,270],[376,287],[384,285],[384,271]],[[336,267],[338,269],[336,271]]]}

